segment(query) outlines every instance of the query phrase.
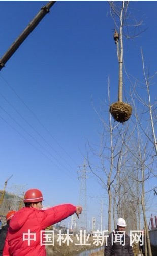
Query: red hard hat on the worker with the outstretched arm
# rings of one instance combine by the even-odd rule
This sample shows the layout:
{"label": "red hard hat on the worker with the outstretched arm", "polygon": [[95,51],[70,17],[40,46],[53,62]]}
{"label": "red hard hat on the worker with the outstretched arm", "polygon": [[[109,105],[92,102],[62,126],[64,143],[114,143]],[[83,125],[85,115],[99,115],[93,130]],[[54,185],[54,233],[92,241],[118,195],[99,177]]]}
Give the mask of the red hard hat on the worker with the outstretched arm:
{"label": "red hard hat on the worker with the outstretched arm", "polygon": [[25,192],[24,203],[35,203],[43,201],[43,195],[38,189],[30,189]]}

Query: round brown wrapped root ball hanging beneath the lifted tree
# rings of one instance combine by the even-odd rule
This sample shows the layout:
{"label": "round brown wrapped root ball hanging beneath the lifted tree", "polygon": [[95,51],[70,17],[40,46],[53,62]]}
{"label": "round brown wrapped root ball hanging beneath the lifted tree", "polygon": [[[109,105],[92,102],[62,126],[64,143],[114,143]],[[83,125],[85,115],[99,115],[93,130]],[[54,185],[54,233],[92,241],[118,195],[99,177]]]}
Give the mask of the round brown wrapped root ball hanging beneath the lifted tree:
{"label": "round brown wrapped root ball hanging beneath the lifted tree", "polygon": [[114,120],[124,123],[131,117],[132,107],[125,102],[118,101],[110,106],[110,113]]}

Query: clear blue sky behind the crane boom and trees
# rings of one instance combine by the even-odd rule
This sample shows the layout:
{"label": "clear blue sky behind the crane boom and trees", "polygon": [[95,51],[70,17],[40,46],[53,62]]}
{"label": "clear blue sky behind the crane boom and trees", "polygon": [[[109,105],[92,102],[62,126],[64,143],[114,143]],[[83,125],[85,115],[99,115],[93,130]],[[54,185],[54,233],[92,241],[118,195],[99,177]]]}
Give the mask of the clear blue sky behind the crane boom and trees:
{"label": "clear blue sky behind the crane boom and trees", "polygon": [[[46,3],[0,1],[1,57]],[[125,64],[137,79],[142,79],[141,46],[151,73],[155,72],[156,5],[156,1],[130,3],[131,12],[147,28],[124,44]],[[8,191],[13,184],[35,187],[43,191],[45,205],[78,204],[77,171],[87,141],[98,143],[101,129],[91,99],[98,109],[107,99],[108,75],[111,101],[117,100],[113,29],[107,1],[57,1],[6,63],[0,73],[0,189],[13,174]],[[89,177],[91,221],[92,216],[100,218],[106,194]],[[105,203],[104,215],[107,221]]]}

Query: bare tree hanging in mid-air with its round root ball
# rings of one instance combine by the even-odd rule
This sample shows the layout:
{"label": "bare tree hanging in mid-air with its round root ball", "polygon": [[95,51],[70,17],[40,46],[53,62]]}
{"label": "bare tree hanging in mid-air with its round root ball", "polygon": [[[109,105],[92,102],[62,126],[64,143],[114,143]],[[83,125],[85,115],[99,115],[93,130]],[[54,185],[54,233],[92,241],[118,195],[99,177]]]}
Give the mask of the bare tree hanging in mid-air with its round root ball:
{"label": "bare tree hanging in mid-air with its round root ball", "polygon": [[[115,21],[113,14],[117,15],[120,21],[120,26],[117,25],[115,22],[115,25],[117,29],[119,30],[119,34],[115,29],[114,33],[114,41],[117,45],[117,57],[118,57],[118,63],[119,63],[119,82],[118,82],[118,102],[115,102],[111,104],[110,106],[110,113],[114,120],[124,123],[127,121],[132,114],[132,107],[122,101],[122,87],[123,87],[123,76],[122,76],[122,66],[123,66],[123,38],[122,38],[122,29],[124,25],[124,20],[126,18],[127,8],[129,1],[122,1],[122,7],[120,8],[120,11],[118,10],[117,6],[114,5],[114,1],[109,1],[110,7],[111,7],[111,16],[113,20]],[[119,44],[120,42],[120,44]]]}

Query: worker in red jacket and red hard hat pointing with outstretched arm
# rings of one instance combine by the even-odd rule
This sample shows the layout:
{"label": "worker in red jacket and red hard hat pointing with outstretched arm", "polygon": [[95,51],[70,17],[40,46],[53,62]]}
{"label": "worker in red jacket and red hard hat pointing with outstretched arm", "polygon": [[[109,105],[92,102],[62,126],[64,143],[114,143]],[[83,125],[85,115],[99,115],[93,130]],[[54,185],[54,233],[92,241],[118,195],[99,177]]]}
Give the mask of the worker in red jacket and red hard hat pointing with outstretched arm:
{"label": "worker in red jacket and red hard hat pointing with outstretched arm", "polygon": [[[3,256],[45,256],[41,232],[67,217],[82,213],[81,206],[62,204],[42,209],[43,195],[38,189],[30,189],[24,195],[25,208],[20,209],[10,221]],[[28,239],[30,238],[30,239]]]}

